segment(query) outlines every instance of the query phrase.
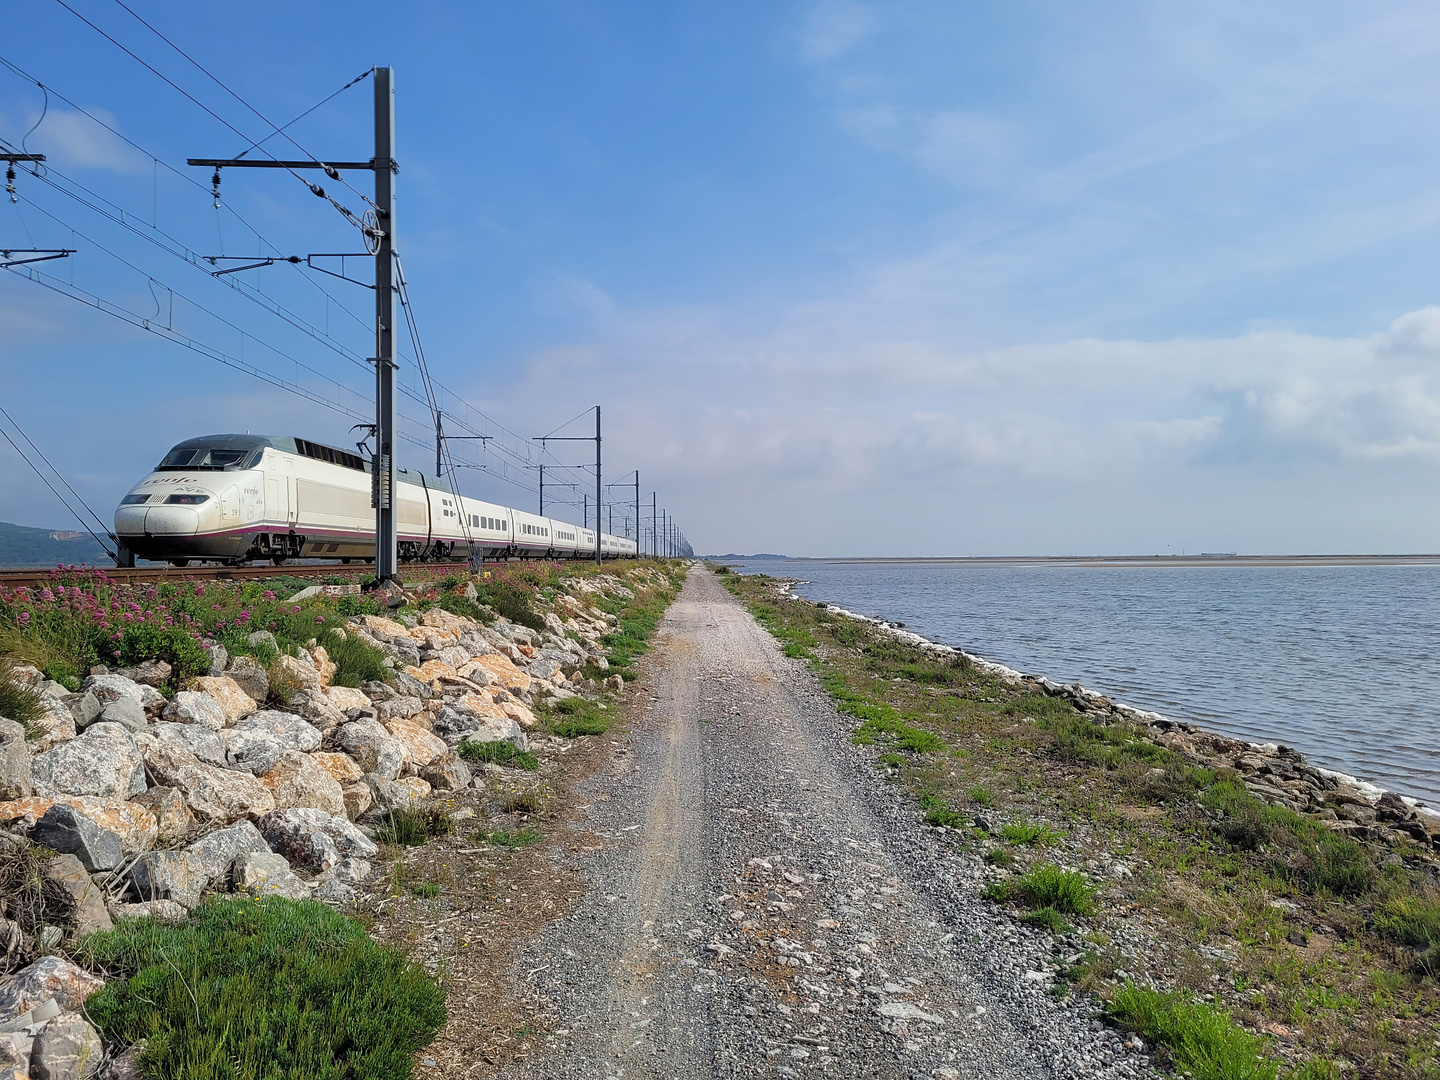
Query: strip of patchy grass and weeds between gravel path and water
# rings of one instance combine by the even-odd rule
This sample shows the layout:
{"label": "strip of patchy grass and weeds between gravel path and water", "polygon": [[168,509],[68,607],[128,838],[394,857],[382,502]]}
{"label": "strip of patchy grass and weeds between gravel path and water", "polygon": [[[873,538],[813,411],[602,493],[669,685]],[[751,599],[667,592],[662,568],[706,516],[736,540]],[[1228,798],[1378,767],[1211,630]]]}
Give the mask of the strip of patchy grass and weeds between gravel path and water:
{"label": "strip of patchy grass and weeds between gravel path and water", "polygon": [[1267,805],[1234,769],[770,579],[721,580],[919,815],[984,863],[992,900],[1056,935],[1057,996],[1099,996],[1197,1080],[1440,1077],[1433,854]]}

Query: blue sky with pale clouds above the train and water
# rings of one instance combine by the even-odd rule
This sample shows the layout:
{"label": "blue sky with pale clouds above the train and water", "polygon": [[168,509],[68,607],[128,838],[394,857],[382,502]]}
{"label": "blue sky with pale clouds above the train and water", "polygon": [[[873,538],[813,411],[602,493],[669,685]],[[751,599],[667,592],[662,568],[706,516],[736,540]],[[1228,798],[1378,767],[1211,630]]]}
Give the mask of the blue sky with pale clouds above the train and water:
{"label": "blue sky with pale clouds above the train and water", "polygon": [[[69,3],[266,134],[114,0]],[[600,402],[609,478],[639,468],[697,550],[1440,550],[1433,6],[132,6],[271,120],[393,63],[436,377],[477,431]],[[354,230],[268,170],[228,171],[216,215],[166,166],[204,186],[184,158],[248,140],[53,0],[0,17],[0,56],[145,151],[52,96],[27,145],[53,183],[20,176],[0,243],[78,248],[45,266],[66,288],[363,412],[367,291],[285,266],[246,297],[141,235],[261,249],[232,210],[284,253]],[[42,107],[0,71],[0,137]],[[369,108],[363,82],[291,131],[364,158]],[[351,438],[14,275],[0,341],[3,403],[102,516],[189,435]],[[491,464],[471,494],[528,507],[510,449],[456,454]],[[0,517],[69,527],[7,446]]]}

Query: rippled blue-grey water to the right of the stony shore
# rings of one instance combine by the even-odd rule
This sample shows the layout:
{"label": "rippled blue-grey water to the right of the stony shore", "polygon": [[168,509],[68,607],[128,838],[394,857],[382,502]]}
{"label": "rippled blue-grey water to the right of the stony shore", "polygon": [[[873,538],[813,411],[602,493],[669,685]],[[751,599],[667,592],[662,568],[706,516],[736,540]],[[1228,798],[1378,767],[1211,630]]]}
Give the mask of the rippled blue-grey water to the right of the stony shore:
{"label": "rippled blue-grey water to the right of the stony shore", "polygon": [[1440,805],[1440,566],[740,569]]}

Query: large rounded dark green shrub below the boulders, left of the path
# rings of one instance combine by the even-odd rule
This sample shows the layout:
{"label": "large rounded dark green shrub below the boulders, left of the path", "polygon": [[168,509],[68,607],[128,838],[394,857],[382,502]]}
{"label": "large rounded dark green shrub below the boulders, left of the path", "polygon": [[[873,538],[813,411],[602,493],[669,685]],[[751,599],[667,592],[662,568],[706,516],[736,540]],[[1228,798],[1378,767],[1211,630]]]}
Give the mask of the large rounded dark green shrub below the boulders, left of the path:
{"label": "large rounded dark green shrub below the boulders, left of the path", "polygon": [[122,972],[85,1011],[107,1041],[145,1044],[145,1076],[403,1079],[445,1024],[423,968],[308,900],[215,899],[190,924],[125,920],[85,952]]}

